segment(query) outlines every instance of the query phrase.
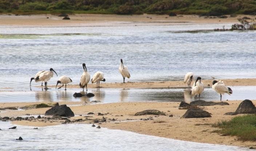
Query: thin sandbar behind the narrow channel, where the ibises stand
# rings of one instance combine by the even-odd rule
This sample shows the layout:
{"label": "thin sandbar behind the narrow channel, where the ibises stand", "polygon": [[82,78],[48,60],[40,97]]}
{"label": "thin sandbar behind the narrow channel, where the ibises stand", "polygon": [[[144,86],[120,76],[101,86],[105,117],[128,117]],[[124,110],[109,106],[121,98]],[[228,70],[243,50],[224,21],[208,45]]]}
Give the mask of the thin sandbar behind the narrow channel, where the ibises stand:
{"label": "thin sandbar behind the narrow channel, where the ibises stand", "polygon": [[[220,79],[215,79],[219,81]],[[100,83],[101,88],[176,88],[176,87],[187,87],[188,85],[183,81],[160,81],[160,82],[128,82],[126,83]],[[212,86],[213,80],[202,80],[204,86]],[[224,81],[225,85],[228,86],[255,86],[256,79],[221,79]],[[194,83],[193,81],[191,83]],[[41,86],[37,86],[41,87]],[[48,85],[48,87],[55,88],[56,85]],[[78,84],[69,84],[68,88],[80,88]],[[88,88],[95,88],[97,87],[96,84],[88,84]]]}

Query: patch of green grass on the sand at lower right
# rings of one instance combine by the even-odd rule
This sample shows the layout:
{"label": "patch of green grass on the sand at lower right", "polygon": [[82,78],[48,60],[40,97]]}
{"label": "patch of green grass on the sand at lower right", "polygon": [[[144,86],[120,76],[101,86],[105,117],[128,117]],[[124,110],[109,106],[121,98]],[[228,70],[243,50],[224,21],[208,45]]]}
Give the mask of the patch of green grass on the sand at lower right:
{"label": "patch of green grass on the sand at lower right", "polygon": [[213,125],[219,127],[219,132],[225,135],[236,136],[239,140],[256,141],[256,115],[234,117],[230,121],[221,121]]}

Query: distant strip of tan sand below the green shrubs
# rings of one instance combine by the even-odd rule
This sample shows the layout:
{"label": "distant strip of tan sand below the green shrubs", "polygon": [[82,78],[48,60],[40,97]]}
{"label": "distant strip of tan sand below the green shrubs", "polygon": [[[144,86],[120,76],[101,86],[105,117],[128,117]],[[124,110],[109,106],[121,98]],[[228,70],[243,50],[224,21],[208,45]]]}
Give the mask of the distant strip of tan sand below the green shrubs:
{"label": "distant strip of tan sand below the green shrubs", "polygon": [[[189,25],[189,24],[223,24],[238,23],[237,18],[204,18],[197,15],[182,15],[169,17],[168,15],[115,15],[115,14],[74,14],[71,20],[62,20],[51,14],[40,15],[0,15],[0,25],[4,26],[145,26],[145,25]],[[228,15],[229,16],[229,15]],[[252,16],[246,15],[250,18]],[[49,18],[47,18],[49,17]],[[152,18],[152,19],[151,19]]]}

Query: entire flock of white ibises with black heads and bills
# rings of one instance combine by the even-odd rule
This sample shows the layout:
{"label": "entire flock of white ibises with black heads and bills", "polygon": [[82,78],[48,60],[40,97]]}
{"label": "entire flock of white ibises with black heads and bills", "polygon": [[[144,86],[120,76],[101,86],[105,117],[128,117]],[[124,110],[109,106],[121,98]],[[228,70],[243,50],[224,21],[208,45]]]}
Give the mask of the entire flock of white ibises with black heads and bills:
{"label": "entire flock of white ibises with black heads and bills", "polygon": [[[128,67],[124,66],[123,59],[121,59],[120,61],[121,62],[120,62],[120,66],[119,66],[119,72],[123,76],[123,83],[124,83],[125,77],[130,78],[131,75],[130,75],[130,73],[128,71]],[[85,63],[83,63],[83,70],[84,70],[84,72],[83,72],[83,74],[81,76],[79,86],[80,86],[80,88],[83,88],[83,91],[84,91],[84,88],[86,87],[86,91],[87,91],[87,84],[89,83],[91,76],[90,76],[90,74],[87,71]],[[47,87],[47,81],[49,81],[51,79],[51,77],[53,77],[53,74],[54,74],[53,72],[55,72],[53,70],[53,68],[50,68],[49,71],[43,70],[43,71],[37,72],[35,77],[31,77],[30,85],[31,85],[31,81],[35,80],[35,82],[42,82],[42,84],[41,84],[42,86],[43,86],[43,83],[44,83],[44,89],[46,89],[46,90],[49,89]],[[57,75],[56,72],[55,72],[55,74]],[[97,83],[97,88],[99,88],[100,87],[100,81],[106,81],[106,80],[104,78],[103,72],[97,71],[93,75],[93,77],[91,79],[91,83]],[[195,83],[191,87],[191,82],[192,81],[194,81],[194,74],[192,72],[188,72],[185,75],[184,83],[188,84],[188,88],[189,89],[191,88],[190,94],[192,96],[197,97],[197,95],[198,95],[199,98],[200,98],[200,94],[204,91],[204,84],[201,81],[201,77],[197,77]],[[71,83],[71,82],[72,82],[72,80],[68,76],[65,76],[65,75],[61,76],[60,79],[57,81],[56,89],[57,89],[57,85],[58,84],[62,84],[62,86],[60,86],[58,89],[63,87],[64,84],[65,84],[65,90],[67,90],[67,84]],[[223,81],[219,81],[218,82],[216,80],[213,80],[213,82],[212,82],[212,89],[220,94],[220,101],[221,101],[222,95],[224,95],[225,93],[227,93],[228,95],[232,94],[232,89],[227,87],[223,83]]]}

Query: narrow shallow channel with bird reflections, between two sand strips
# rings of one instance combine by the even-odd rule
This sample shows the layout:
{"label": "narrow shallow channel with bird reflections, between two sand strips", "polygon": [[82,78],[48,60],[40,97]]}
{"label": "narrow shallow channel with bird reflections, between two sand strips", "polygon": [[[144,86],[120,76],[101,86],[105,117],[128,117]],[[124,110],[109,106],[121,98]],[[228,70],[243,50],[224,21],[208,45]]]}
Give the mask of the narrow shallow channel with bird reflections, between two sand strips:
{"label": "narrow shallow channel with bird reflections, between two sand strips", "polygon": [[[225,94],[222,100],[256,100],[255,86],[232,87],[231,96]],[[0,102],[44,102],[44,101],[100,101],[102,103],[128,102],[128,101],[195,101],[187,88],[100,88],[89,89],[87,93],[94,93],[94,97],[73,97],[75,92],[81,89],[68,89],[67,91],[32,87],[33,91],[0,92]],[[84,93],[84,92],[82,92]],[[199,98],[197,98],[198,100]],[[205,87],[200,95],[201,100],[220,100],[211,87]]]}

